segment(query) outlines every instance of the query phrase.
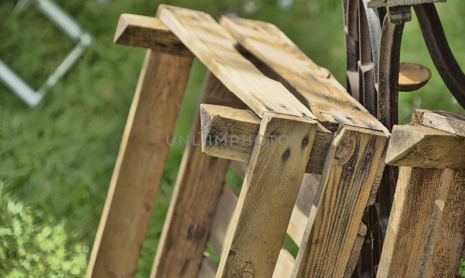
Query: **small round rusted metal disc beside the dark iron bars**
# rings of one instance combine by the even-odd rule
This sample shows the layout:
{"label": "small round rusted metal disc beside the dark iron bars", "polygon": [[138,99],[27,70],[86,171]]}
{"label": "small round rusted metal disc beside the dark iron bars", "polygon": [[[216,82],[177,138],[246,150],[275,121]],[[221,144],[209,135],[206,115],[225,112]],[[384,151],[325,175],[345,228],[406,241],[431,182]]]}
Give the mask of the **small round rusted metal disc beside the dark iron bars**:
{"label": "small round rusted metal disc beside the dark iron bars", "polygon": [[428,83],[431,71],[427,67],[414,63],[400,63],[399,91],[410,92],[420,89]]}

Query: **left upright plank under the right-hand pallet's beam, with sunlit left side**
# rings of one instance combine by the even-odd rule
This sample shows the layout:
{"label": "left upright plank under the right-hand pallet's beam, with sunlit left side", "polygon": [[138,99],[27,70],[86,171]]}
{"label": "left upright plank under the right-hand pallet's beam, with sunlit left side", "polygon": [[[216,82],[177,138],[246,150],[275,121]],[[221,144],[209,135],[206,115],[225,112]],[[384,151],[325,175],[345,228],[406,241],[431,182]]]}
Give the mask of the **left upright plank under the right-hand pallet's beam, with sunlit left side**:
{"label": "left upright plank under the right-hand pallet's beam, with sunlit left side", "polygon": [[400,168],[377,278],[418,277],[442,172]]}

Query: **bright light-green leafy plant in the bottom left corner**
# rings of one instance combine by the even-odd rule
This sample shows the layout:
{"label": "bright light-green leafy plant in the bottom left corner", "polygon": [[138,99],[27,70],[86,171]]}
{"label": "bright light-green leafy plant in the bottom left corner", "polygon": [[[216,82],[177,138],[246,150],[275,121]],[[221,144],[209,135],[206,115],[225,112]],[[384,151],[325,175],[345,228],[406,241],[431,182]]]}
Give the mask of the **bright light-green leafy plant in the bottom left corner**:
{"label": "bright light-green leafy plant in the bottom left corner", "polygon": [[0,277],[79,277],[88,246],[65,229],[65,221],[13,200],[0,183]]}

